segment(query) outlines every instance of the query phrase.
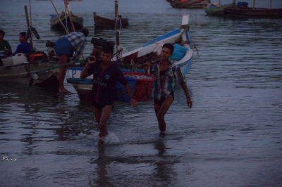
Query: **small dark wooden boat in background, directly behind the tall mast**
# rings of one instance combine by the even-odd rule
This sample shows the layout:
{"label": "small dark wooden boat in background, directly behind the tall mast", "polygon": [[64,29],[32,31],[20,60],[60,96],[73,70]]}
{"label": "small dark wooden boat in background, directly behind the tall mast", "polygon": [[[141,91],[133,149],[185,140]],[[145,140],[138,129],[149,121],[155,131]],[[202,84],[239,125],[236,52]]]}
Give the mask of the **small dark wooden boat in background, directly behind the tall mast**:
{"label": "small dark wooden boat in background, directly behind the tall mast", "polygon": [[[120,27],[126,27],[128,26],[128,18],[121,18],[121,15],[119,15],[121,21],[116,22],[116,19],[109,19],[109,18],[104,18],[101,17],[99,15],[97,15],[97,13],[93,13],[94,16],[94,22],[95,22],[95,27],[96,28],[106,28],[106,29],[115,29],[120,28]],[[121,22],[121,25],[120,25]],[[117,25],[116,25],[117,23]]]}

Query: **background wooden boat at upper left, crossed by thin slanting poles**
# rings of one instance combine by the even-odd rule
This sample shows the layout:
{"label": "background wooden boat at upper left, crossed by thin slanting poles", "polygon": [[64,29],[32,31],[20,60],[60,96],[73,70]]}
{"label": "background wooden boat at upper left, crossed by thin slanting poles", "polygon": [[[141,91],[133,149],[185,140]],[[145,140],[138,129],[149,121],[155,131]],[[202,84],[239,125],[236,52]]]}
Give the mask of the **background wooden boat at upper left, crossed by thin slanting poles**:
{"label": "background wooden boat at upper left, crossed by thin slanting poles", "polygon": [[50,25],[52,29],[63,31],[63,25],[61,25],[59,18],[61,18],[61,21],[63,22],[65,27],[68,28],[68,30],[73,30],[71,26],[71,19],[73,20],[73,25],[75,27],[75,30],[80,30],[83,27],[82,17],[78,17],[77,15],[73,15],[73,13],[71,13],[71,18],[70,18],[70,15],[67,15],[65,12],[62,11],[59,12],[59,17],[56,14],[51,15]]}

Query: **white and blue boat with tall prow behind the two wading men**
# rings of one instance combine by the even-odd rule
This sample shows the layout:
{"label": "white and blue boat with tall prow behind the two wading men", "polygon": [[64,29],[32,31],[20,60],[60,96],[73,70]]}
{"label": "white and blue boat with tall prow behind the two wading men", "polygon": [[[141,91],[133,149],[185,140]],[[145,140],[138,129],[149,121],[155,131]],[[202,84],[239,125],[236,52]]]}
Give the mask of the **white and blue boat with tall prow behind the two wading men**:
{"label": "white and blue boat with tall prow behind the two wading men", "polygon": [[[168,32],[161,37],[149,41],[138,49],[125,53],[121,58],[115,57],[113,62],[121,67],[121,70],[124,72],[132,71],[135,68],[138,72],[142,72],[142,68],[145,67],[147,61],[156,62],[160,59],[161,49],[165,43],[176,44],[185,47],[187,50],[178,60],[173,61],[174,65],[180,67],[183,75],[185,75],[190,70],[193,56],[188,22],[189,15],[184,15],[179,29]],[[78,91],[80,101],[87,103],[90,101],[92,77],[90,76],[87,79],[81,80],[80,73],[82,69],[83,67],[69,68],[70,78],[67,81],[73,84],[75,90]]]}

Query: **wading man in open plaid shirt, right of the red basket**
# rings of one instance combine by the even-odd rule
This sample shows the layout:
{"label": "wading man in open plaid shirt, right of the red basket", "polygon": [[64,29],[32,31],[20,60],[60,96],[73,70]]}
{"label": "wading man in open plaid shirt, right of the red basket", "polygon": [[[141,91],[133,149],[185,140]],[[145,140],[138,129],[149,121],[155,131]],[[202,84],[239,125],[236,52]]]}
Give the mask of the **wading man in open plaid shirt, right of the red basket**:
{"label": "wading man in open plaid shirt, right of the red basket", "polygon": [[150,63],[147,63],[147,71],[150,70],[148,72],[151,72],[151,74],[157,78],[153,83],[152,95],[154,98],[154,111],[159,122],[159,131],[161,136],[165,135],[166,122],[164,121],[164,115],[166,115],[166,112],[173,103],[174,86],[176,81],[179,82],[185,93],[188,107],[192,107],[188,87],[180,67],[173,65],[173,63],[168,60],[168,58],[172,56],[173,49],[174,47],[172,44],[164,44],[159,63],[154,64],[152,67]]}

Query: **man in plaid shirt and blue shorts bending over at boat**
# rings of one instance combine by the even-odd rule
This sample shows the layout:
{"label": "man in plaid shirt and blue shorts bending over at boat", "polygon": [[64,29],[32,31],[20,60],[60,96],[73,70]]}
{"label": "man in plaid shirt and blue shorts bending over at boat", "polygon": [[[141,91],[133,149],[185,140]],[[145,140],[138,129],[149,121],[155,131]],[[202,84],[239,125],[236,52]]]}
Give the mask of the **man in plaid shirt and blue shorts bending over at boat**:
{"label": "man in plaid shirt and blue shorts bending over at boat", "polygon": [[[68,63],[70,58],[73,57],[73,60],[79,60],[80,56],[83,53],[86,45],[86,37],[89,34],[89,30],[82,28],[80,32],[71,32],[69,34],[60,37],[55,44],[56,55],[59,56],[59,63],[65,64]],[[75,55],[73,56],[73,53]],[[70,93],[63,86],[63,80],[66,75],[66,66],[60,67],[59,72],[59,91],[64,93]]]}

